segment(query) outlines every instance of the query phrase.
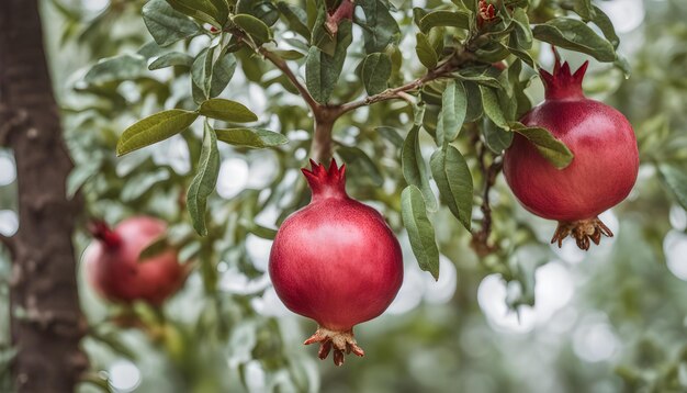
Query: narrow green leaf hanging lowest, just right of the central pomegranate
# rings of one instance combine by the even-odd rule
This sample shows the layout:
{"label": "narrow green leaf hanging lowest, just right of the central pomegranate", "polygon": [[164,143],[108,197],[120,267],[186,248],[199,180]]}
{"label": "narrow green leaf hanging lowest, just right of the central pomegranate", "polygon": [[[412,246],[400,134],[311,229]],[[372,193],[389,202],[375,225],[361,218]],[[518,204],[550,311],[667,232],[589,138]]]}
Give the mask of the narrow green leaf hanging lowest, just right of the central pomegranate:
{"label": "narrow green leaf hanging lowest, just right of the central pomegranate", "polygon": [[438,280],[439,248],[435,239],[435,228],[427,217],[423,193],[413,184],[401,193],[401,215],[420,269],[429,271]]}

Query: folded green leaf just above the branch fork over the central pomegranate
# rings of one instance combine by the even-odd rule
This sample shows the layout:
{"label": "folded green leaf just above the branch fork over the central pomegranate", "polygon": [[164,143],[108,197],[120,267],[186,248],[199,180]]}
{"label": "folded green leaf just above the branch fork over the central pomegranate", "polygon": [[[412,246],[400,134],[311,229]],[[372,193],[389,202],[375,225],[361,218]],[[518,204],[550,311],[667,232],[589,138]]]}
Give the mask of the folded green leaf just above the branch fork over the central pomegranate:
{"label": "folded green leaf just above the branch fork over the central pomegranate", "polygon": [[339,24],[334,56],[327,55],[315,46],[311,47],[307,54],[305,85],[317,102],[327,102],[339,80],[346,60],[346,52],[352,41],[351,26],[352,24],[348,20]]}

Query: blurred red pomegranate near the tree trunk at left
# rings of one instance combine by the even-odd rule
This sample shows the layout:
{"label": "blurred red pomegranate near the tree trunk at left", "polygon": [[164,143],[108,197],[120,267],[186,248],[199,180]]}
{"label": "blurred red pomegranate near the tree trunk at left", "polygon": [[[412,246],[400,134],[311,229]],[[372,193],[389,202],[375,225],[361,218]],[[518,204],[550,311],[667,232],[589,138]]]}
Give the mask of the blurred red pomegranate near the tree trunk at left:
{"label": "blurred red pomegranate near the tree trunk at left", "polygon": [[162,221],[136,216],[114,229],[103,222],[93,223],[90,229],[95,240],[85,256],[86,274],[103,297],[126,304],[138,300],[159,306],[183,284],[188,267],[179,263],[176,250],[138,260],[140,251],[167,231]]}

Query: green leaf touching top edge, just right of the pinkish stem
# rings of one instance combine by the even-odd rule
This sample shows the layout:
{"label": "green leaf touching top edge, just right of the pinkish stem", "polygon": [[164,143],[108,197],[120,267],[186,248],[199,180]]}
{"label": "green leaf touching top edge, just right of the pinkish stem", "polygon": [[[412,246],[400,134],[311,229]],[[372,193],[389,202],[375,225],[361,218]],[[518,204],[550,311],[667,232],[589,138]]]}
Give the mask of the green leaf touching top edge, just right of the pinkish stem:
{"label": "green leaf touching top edge, just right of the pinkish stem", "polygon": [[398,41],[401,29],[384,1],[358,0],[356,3],[365,15],[364,24],[356,20],[362,27],[365,53],[384,52],[390,44]]}

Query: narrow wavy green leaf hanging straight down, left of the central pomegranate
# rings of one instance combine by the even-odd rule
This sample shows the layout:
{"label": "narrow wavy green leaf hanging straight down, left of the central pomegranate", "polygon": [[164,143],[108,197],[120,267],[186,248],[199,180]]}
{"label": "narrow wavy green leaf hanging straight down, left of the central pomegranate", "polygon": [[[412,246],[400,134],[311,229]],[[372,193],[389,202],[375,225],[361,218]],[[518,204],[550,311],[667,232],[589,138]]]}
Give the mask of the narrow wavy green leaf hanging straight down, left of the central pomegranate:
{"label": "narrow wavy green leaf hanging straight down, left of the central pomegranate", "polygon": [[207,235],[205,225],[205,206],[207,196],[215,191],[217,176],[219,175],[219,153],[217,150],[217,136],[215,131],[205,122],[203,135],[203,149],[198,164],[198,172],[189,187],[187,194],[187,210],[191,215],[193,228],[199,235]]}

